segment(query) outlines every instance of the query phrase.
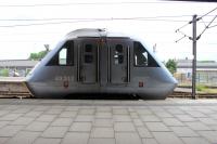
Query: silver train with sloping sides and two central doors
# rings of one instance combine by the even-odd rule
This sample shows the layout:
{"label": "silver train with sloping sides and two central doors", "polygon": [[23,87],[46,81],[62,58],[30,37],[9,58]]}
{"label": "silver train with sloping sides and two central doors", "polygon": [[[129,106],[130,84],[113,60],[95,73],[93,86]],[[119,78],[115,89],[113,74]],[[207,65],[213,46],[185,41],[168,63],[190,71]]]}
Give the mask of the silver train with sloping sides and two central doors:
{"label": "silver train with sloping sides and two central doors", "polygon": [[164,100],[177,81],[143,41],[104,29],[78,29],[36,65],[26,84],[35,97],[126,93]]}

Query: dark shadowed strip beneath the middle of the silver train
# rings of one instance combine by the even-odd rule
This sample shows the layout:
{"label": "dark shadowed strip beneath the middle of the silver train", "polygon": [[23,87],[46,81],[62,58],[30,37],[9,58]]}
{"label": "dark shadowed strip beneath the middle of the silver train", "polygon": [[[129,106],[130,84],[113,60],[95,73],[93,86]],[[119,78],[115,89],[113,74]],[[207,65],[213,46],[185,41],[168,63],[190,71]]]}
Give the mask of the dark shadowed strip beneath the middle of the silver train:
{"label": "dark shadowed strip beneath the middle of the silver train", "polygon": [[132,94],[107,94],[107,93],[86,93],[69,94],[64,96],[66,100],[130,100],[138,101],[139,96]]}

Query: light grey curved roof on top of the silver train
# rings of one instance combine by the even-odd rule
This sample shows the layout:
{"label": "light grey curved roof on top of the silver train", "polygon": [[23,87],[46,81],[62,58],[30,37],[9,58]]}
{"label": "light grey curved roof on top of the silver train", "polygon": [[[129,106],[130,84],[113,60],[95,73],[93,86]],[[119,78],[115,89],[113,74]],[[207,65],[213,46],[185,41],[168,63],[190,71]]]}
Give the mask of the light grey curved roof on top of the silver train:
{"label": "light grey curved roof on top of the silver train", "polygon": [[71,31],[66,35],[66,39],[74,39],[79,37],[116,37],[116,38],[130,38],[122,32],[107,31],[106,29],[82,28]]}

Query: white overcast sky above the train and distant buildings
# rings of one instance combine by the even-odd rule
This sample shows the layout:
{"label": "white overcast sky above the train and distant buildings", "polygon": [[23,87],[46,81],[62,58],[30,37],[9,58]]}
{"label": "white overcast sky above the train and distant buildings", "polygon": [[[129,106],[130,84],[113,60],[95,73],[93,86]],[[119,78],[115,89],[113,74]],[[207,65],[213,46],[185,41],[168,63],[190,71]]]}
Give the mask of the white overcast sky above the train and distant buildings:
{"label": "white overcast sky above the train and distant buildings", "polygon": [[[143,38],[162,61],[192,57],[192,41],[175,30],[217,3],[154,0],[0,0],[0,60],[25,60],[78,28],[106,28]],[[197,35],[217,10],[197,23]],[[210,26],[217,25],[217,18]],[[180,29],[192,36],[192,25]],[[197,41],[197,60],[217,61],[217,26]]]}

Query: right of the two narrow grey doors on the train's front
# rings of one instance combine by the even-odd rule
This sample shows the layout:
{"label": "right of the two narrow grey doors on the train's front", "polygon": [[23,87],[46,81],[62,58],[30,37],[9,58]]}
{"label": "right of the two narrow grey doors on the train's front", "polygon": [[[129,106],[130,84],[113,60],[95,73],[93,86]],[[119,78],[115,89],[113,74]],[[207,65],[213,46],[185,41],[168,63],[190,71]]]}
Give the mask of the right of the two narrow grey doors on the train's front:
{"label": "right of the two narrow grey doors on the train's front", "polygon": [[127,83],[130,81],[130,43],[125,39],[107,40],[108,45],[108,80],[111,83]]}

